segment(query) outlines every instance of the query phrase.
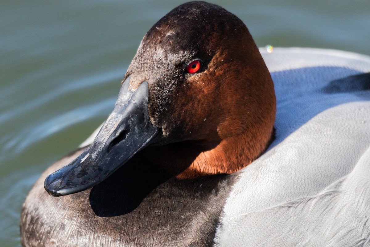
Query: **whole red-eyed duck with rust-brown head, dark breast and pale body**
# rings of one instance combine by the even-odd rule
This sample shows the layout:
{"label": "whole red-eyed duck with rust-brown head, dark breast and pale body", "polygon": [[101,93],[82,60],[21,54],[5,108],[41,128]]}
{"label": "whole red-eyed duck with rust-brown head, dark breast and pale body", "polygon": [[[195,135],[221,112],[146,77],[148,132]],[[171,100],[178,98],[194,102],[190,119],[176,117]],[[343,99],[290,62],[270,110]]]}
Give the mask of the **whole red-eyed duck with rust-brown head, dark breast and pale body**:
{"label": "whole red-eyed duck with rust-brown head, dark breast and pale body", "polygon": [[354,53],[259,51],[225,9],[182,4],[100,131],[31,189],[22,245],[369,246],[369,71]]}

